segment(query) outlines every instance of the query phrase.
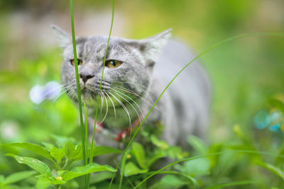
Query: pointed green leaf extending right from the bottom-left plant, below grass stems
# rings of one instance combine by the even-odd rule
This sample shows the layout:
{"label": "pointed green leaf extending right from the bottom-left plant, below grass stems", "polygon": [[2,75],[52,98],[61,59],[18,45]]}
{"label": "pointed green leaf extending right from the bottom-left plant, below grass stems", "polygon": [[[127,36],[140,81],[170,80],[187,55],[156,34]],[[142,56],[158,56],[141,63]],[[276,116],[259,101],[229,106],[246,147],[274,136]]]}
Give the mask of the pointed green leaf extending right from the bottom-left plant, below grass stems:
{"label": "pointed green leaf extending right from the bottom-left plant, below grass stems", "polygon": [[94,173],[99,171],[111,171],[116,172],[115,168],[107,165],[99,165],[99,164],[89,164],[87,166],[77,166],[73,168],[71,171],[67,171],[62,175],[63,181],[69,181],[73,178],[84,176],[88,173]]}

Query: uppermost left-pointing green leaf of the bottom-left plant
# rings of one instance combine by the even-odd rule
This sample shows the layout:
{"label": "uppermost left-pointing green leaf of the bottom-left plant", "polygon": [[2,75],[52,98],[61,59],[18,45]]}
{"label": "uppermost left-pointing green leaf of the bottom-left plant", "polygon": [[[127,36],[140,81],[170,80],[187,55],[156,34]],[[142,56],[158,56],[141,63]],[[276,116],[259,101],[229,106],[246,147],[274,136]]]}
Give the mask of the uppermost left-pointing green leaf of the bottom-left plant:
{"label": "uppermost left-pointing green leaf of the bottom-left plant", "polygon": [[6,144],[6,145],[9,146],[9,147],[18,147],[18,148],[22,148],[22,149],[27,149],[28,151],[32,151],[35,154],[43,156],[43,157],[50,159],[51,161],[54,162],[53,157],[50,156],[48,151],[46,151],[43,147],[41,147],[38,144],[23,142],[23,143],[11,143],[11,144]]}

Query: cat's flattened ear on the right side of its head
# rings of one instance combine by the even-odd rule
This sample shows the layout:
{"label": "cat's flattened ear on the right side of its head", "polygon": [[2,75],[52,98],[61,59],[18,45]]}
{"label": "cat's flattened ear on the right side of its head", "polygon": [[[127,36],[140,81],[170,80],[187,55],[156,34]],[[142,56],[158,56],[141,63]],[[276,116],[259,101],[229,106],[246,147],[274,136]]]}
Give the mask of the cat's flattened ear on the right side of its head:
{"label": "cat's flattened ear on the right side of its head", "polygon": [[138,50],[141,51],[143,57],[146,58],[147,66],[153,67],[158,59],[158,53],[160,52],[160,49],[166,45],[168,39],[170,38],[171,31],[172,29],[168,29],[163,31],[162,33],[159,33],[158,35],[154,35],[151,38],[137,40],[136,42],[134,42],[133,45],[136,45],[136,47],[138,47]]}

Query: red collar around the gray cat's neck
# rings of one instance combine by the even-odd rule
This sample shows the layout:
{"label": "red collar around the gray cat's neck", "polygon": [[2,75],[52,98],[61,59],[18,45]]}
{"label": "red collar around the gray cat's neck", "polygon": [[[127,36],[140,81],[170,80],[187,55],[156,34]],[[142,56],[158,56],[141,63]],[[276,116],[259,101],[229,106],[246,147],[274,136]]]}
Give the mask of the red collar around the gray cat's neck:
{"label": "red collar around the gray cat's neck", "polygon": [[131,126],[126,127],[124,130],[121,130],[121,132],[119,133],[114,133],[111,130],[104,128],[102,122],[97,122],[96,131],[103,134],[106,137],[110,137],[116,140],[117,142],[121,142],[122,139],[125,139],[130,134],[131,130],[135,129],[140,125],[142,119],[143,115],[139,115],[138,118],[132,122]]}

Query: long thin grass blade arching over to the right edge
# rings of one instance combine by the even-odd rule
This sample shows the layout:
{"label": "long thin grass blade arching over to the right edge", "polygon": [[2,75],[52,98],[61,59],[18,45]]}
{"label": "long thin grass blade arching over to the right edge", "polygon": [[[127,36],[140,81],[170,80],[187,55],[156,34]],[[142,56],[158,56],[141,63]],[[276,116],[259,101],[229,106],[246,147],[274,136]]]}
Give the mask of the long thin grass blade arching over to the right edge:
{"label": "long thin grass blade arching over to the right edge", "polygon": [[[185,67],[183,67],[182,69],[180,69],[180,71],[178,71],[178,74],[176,74],[173,79],[168,83],[168,85],[164,88],[163,92],[160,93],[160,96],[158,96],[157,100],[155,101],[155,103],[153,103],[151,109],[148,111],[147,115],[145,116],[145,118],[142,120],[141,124],[137,127],[136,132],[134,132],[133,136],[131,137],[129,144],[127,144],[126,149],[124,150],[124,154],[121,156],[121,159],[123,159],[123,157],[125,156],[125,152],[127,149],[129,149],[131,142],[133,141],[133,139],[136,137],[136,134],[139,132],[141,126],[143,125],[143,123],[145,122],[145,120],[148,118],[148,116],[150,115],[150,113],[152,112],[153,108],[155,107],[155,105],[158,103],[158,101],[160,100],[160,98],[163,96],[163,93],[165,93],[165,91],[168,89],[168,87],[170,86],[170,84],[173,83],[173,81],[175,81],[175,79],[182,73],[183,70],[185,70],[192,62],[194,62],[196,59],[198,59],[199,57],[202,57],[202,55],[206,54],[207,52],[209,52],[210,50],[213,50],[214,48],[218,47],[219,45],[224,44],[225,42],[229,42],[231,40],[236,40],[239,38],[247,38],[250,36],[255,36],[255,35],[280,35],[283,36],[284,33],[249,33],[249,34],[244,34],[244,35],[237,35],[235,37],[232,38],[228,38],[226,40],[222,40],[220,42],[217,42],[215,45],[212,45],[210,47],[208,47],[206,50],[204,50],[203,52],[201,52],[199,55],[197,55],[197,57],[195,57],[194,59],[192,59],[189,63],[187,63],[185,65]],[[121,163],[121,161],[119,161],[119,164]],[[119,168],[119,164],[117,164],[116,169]],[[109,188],[111,188],[111,184],[114,180],[116,173],[114,173],[113,178],[111,178],[111,182],[109,184]]]}

